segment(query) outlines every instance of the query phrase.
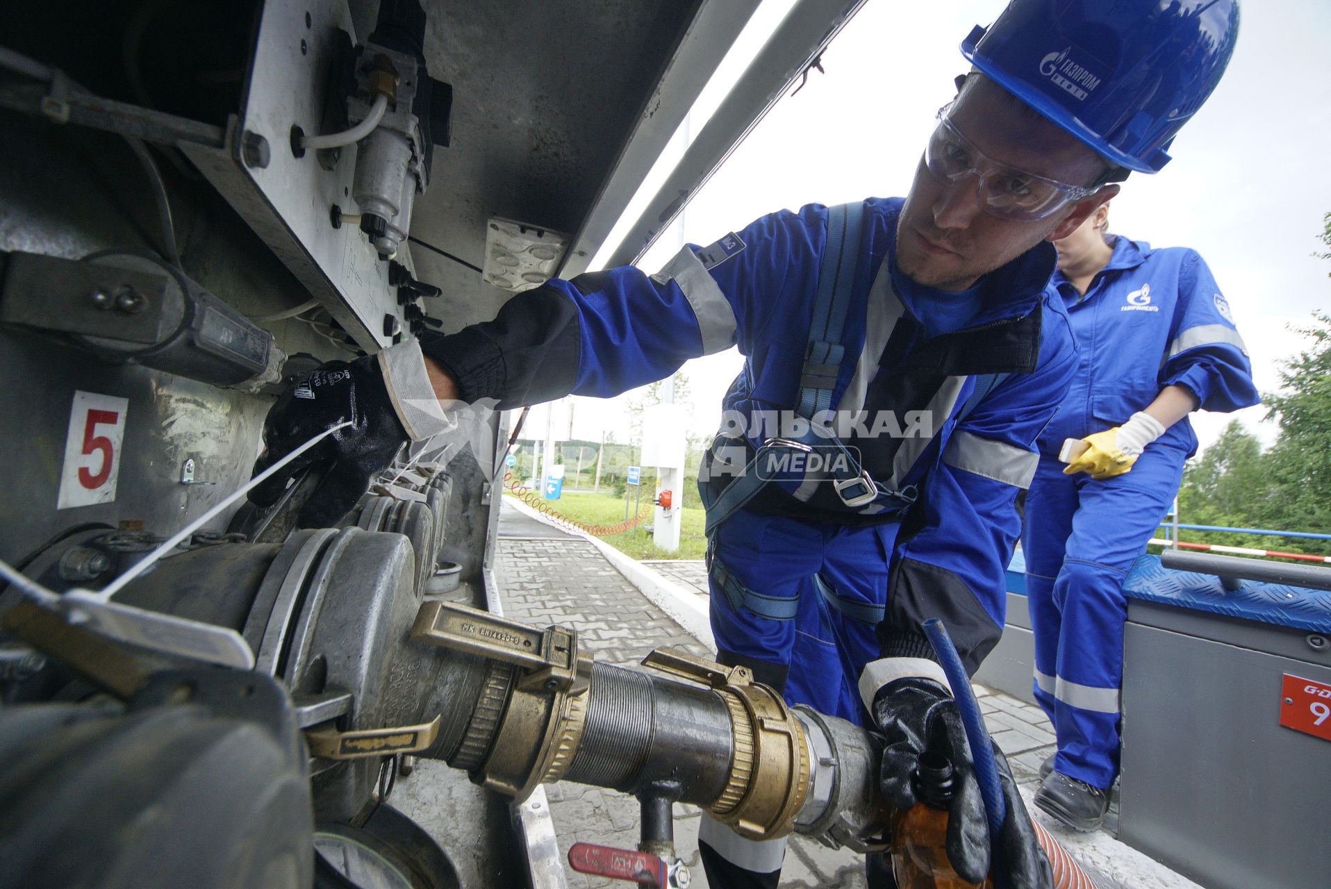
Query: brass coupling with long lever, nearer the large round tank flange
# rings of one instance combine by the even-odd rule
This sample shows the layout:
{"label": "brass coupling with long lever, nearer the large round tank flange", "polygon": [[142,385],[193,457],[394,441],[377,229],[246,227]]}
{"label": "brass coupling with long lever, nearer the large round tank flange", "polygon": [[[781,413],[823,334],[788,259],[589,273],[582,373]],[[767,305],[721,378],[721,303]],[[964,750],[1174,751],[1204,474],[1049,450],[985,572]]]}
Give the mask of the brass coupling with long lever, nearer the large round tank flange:
{"label": "brass coupling with long lever, nearer the large round tank flange", "polygon": [[486,687],[449,765],[523,801],[568,771],[587,717],[592,659],[578,632],[538,629],[487,611],[427,602],[411,639],[486,657]]}

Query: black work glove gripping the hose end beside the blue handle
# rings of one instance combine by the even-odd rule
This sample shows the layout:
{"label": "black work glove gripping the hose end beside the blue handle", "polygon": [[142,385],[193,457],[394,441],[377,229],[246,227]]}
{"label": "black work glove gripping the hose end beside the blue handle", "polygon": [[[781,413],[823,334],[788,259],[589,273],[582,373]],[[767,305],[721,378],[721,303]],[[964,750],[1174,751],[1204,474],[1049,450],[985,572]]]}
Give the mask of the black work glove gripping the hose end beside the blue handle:
{"label": "black work glove gripping the hose end beside the blue handle", "polygon": [[[916,804],[910,780],[924,751],[948,757],[953,768],[953,797],[948,809],[948,861],[958,877],[982,882],[990,872],[989,824],[980,796],[974,763],[966,744],[961,712],[946,688],[930,679],[897,679],[878,689],[873,719],[886,740],[882,751],[882,796],[905,812]],[[1008,759],[994,747],[1006,817],[1002,824],[1001,861],[993,868],[997,889],[1051,889],[1049,860],[1017,792]]]}

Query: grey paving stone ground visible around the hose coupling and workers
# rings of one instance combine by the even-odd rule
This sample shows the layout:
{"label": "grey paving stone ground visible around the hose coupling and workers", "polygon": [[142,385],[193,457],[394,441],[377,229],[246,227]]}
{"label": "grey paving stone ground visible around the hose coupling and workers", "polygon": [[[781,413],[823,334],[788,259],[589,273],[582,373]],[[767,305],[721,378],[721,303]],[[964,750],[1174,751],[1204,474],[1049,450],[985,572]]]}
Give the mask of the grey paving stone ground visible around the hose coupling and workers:
{"label": "grey paving stone ground visible around the hose coupling and workers", "polygon": [[[705,570],[701,562],[647,564],[676,583],[705,592]],[[524,535],[514,524],[500,526],[496,567],[506,615],[540,624],[572,625],[578,628],[579,641],[595,652],[598,660],[636,667],[647,652],[660,645],[681,645],[696,655],[715,655],[651,603],[582,538],[567,534],[534,538]],[[1053,729],[1038,707],[982,685],[976,685],[976,692],[989,731],[1008,755],[1013,775],[1029,800],[1040,785],[1041,763],[1054,752]],[[574,842],[596,842],[624,849],[638,845],[635,799],[567,781],[547,785],[546,791],[560,856],[566,861],[568,846]],[[1065,837],[1075,840],[1042,813],[1036,817],[1065,842]],[[697,856],[699,822],[699,809],[676,806],[676,848],[689,865],[692,889],[707,889]],[[1117,804],[1110,810],[1106,828],[1111,830],[1115,822]],[[566,869],[566,873],[571,889],[618,889],[624,885],[587,877],[571,869]],[[781,886],[791,889],[866,886],[861,856],[845,849],[828,849],[804,837],[791,838],[781,876]],[[1097,877],[1099,889],[1193,885],[1182,878],[1181,882],[1138,878],[1123,882],[1103,872],[1091,876]]]}

